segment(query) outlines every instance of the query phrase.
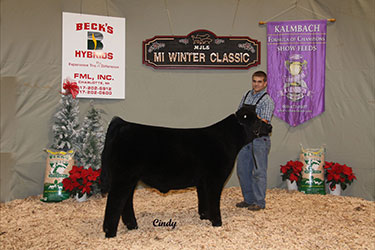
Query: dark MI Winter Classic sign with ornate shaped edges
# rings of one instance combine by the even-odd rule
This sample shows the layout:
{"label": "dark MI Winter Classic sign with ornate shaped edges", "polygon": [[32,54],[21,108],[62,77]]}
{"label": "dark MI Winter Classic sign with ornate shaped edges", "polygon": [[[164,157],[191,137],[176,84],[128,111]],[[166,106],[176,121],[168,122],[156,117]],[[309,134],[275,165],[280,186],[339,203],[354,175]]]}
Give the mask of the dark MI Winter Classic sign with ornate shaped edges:
{"label": "dark MI Winter Classic sign with ornate shaped edges", "polygon": [[220,37],[208,30],[155,36],[143,41],[143,64],[171,69],[248,69],[260,64],[260,42],[244,36]]}

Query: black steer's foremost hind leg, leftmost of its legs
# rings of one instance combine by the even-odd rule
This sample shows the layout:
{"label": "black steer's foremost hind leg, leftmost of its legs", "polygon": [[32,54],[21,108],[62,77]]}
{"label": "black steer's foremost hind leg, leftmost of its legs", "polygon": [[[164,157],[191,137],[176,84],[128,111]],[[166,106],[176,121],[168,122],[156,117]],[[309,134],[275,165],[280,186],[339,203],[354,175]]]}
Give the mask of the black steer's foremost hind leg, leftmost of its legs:
{"label": "black steer's foremost hind leg, leftmost of its legs", "polygon": [[103,223],[103,231],[105,232],[105,237],[107,238],[116,236],[120,215],[124,210],[127,200],[127,195],[125,195],[126,193],[129,193],[129,190],[122,187],[119,183],[112,182],[107,198]]}

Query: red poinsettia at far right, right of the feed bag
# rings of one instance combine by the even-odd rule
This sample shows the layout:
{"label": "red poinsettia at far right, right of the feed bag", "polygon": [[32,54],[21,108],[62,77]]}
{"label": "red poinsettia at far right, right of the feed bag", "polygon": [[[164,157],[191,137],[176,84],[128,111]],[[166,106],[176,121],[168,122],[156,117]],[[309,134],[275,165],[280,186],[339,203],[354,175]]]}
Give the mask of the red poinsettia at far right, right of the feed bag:
{"label": "red poinsettia at far right, right of the feed bag", "polygon": [[342,190],[350,185],[354,179],[357,179],[351,167],[346,164],[341,165],[336,162],[326,161],[324,164],[325,178],[331,190],[336,189],[336,184],[340,184]]}

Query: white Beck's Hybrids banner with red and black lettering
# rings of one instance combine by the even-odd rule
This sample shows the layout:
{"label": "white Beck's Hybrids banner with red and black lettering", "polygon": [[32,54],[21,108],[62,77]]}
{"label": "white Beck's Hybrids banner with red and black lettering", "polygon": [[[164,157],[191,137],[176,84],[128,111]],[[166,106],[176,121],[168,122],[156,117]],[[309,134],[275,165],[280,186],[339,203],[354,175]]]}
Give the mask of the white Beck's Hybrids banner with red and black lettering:
{"label": "white Beck's Hybrids banner with red and black lettering", "polygon": [[125,18],[63,13],[62,38],[62,83],[77,82],[78,98],[125,98]]}

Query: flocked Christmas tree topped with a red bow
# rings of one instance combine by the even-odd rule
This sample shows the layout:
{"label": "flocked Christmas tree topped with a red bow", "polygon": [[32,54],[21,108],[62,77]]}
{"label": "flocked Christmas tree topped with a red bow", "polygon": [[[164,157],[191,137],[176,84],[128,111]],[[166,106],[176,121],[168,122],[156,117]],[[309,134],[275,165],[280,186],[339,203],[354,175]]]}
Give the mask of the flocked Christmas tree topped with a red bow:
{"label": "flocked Christmas tree topped with a red bow", "polygon": [[53,144],[55,150],[78,150],[79,138],[79,106],[75,99],[78,87],[75,82],[64,83],[65,93],[62,93],[60,110],[55,114],[55,122],[52,126]]}

